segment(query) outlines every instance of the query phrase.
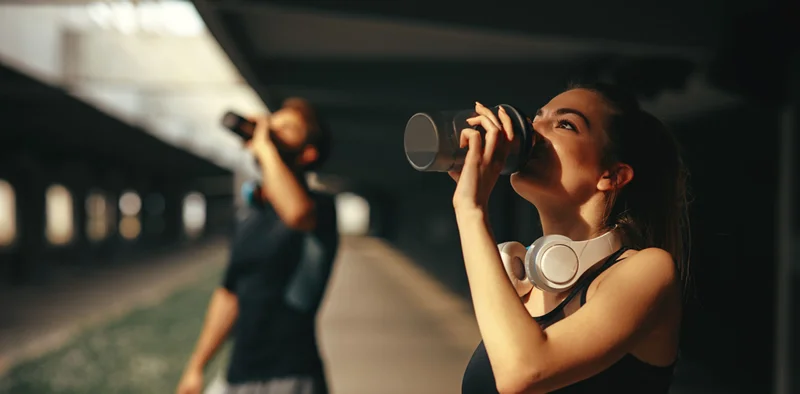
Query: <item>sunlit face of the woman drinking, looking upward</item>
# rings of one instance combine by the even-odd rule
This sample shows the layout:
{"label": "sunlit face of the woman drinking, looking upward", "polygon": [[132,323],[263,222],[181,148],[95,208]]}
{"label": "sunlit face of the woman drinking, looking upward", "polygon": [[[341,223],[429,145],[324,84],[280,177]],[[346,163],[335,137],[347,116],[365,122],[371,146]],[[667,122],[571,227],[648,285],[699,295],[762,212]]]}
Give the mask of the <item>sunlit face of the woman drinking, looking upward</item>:
{"label": "sunlit face of the woman drinking, looking upward", "polygon": [[542,107],[533,119],[542,137],[538,154],[511,176],[517,194],[533,204],[579,206],[597,193],[607,112],[603,98],[585,89],[561,93]]}

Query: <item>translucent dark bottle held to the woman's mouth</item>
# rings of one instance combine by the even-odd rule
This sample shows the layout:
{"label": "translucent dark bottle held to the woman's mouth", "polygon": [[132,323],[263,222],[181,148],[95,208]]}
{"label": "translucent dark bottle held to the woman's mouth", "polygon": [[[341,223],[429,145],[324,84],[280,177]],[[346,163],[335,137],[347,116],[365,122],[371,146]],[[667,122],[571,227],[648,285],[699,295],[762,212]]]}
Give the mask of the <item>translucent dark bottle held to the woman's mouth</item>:
{"label": "translucent dark bottle held to the woman's mouth", "polygon": [[[531,119],[522,111],[500,104],[490,108],[498,116],[500,107],[506,110],[514,129],[514,142],[501,174],[508,175],[519,171],[530,157],[535,133]],[[408,162],[417,171],[447,172],[460,171],[464,165],[467,148],[460,148],[461,130],[472,128],[467,119],[477,116],[474,110],[420,112],[414,114],[406,123],[404,145]]]}

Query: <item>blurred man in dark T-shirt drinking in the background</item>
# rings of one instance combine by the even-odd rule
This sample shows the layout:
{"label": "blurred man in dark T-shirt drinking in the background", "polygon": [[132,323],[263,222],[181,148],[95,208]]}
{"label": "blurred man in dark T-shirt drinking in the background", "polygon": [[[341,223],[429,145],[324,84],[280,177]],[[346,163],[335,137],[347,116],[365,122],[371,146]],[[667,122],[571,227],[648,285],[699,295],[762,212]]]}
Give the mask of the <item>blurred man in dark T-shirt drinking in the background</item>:
{"label": "blurred man in dark T-shirt drinking in the background", "polygon": [[262,179],[243,188],[224,280],[177,392],[202,391],[203,369],[231,333],[226,394],[326,394],[316,315],[339,237],[333,197],[310,191],[305,175],[324,162],[330,135],[297,98],[251,120]]}

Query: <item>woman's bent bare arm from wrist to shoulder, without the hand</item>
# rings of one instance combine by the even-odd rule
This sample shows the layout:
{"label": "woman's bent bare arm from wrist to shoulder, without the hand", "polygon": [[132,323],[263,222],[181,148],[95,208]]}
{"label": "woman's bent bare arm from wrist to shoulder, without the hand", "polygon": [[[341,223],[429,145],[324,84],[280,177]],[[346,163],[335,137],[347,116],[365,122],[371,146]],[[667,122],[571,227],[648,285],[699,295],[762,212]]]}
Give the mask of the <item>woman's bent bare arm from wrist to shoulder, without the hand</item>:
{"label": "woman's bent bare arm from wrist to shoulder, without the hand", "polygon": [[544,393],[595,375],[627,352],[663,310],[674,285],[670,255],[626,259],[591,302],[542,330],[503,269],[484,209],[456,211],[475,315],[501,393]]}

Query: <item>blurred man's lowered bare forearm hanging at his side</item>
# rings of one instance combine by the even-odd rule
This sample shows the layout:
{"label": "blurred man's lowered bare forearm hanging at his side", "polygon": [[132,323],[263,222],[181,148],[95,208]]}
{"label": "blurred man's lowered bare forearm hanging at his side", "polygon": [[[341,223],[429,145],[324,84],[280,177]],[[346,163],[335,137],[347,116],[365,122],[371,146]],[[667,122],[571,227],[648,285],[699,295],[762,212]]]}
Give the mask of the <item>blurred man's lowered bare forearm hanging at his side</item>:
{"label": "blurred man's lowered bare forearm hanging at his side", "polygon": [[226,288],[214,291],[200,338],[186,365],[187,375],[198,373],[202,375],[203,368],[214,356],[219,345],[225,341],[238,315],[239,302],[236,295]]}

